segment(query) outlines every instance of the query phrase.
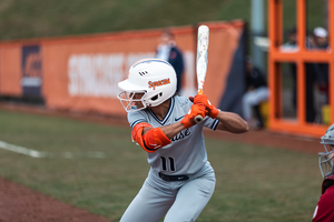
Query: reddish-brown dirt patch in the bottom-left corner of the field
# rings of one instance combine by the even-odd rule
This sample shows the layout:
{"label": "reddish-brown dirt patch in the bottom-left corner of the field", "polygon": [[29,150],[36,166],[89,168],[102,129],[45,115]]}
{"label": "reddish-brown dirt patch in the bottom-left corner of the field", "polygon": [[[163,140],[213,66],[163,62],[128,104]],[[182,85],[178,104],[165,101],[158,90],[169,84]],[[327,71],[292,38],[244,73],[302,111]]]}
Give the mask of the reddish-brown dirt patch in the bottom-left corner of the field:
{"label": "reddish-brown dirt patch in the bottom-left corner of the field", "polygon": [[0,222],[110,222],[0,178]]}

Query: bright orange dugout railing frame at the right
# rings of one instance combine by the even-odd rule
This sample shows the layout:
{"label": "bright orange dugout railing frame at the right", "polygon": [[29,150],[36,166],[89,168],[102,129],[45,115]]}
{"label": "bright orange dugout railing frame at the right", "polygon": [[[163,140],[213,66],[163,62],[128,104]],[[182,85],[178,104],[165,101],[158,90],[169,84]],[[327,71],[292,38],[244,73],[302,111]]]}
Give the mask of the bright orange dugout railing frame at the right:
{"label": "bright orange dugout railing frame at the right", "polygon": [[[284,51],[283,42],[283,0],[268,0],[268,38],[271,41],[268,52],[268,84],[269,99],[269,130],[293,134],[307,134],[321,137],[325,133],[328,124],[333,123],[334,112],[330,111],[324,122],[306,121],[306,87],[305,64],[327,63],[328,64],[328,104],[327,110],[333,110],[334,104],[334,52],[331,44],[334,42],[334,1],[328,1],[328,48],[326,50],[310,50],[306,42],[306,0],[296,0],[296,27],[297,27],[297,50]],[[332,12],[332,13],[331,13]],[[283,68],[282,63],[296,64],[296,118],[286,119],[283,117]],[[324,110],[324,108],[322,108]],[[323,117],[325,118],[325,117]]]}

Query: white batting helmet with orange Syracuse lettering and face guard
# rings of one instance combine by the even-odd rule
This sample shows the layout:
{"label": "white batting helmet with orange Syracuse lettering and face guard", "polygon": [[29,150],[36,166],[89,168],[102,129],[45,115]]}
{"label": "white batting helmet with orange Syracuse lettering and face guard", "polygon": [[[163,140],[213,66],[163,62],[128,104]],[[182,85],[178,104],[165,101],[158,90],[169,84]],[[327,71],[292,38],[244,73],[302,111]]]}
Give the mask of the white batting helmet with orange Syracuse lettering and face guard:
{"label": "white batting helmet with orange Syracuse lettering and face guard", "polygon": [[118,83],[124,91],[117,98],[127,112],[157,107],[175,94],[176,81],[176,72],[167,61],[139,60],[130,68],[128,79]]}

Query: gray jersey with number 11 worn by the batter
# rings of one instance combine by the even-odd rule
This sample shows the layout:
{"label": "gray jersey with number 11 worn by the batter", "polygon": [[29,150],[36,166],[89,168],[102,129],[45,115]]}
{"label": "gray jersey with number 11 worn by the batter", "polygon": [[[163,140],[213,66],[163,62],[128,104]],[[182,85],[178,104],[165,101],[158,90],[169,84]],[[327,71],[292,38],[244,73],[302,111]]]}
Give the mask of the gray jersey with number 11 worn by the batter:
{"label": "gray jersey with number 11 worn by the batter", "polygon": [[[169,110],[164,120],[159,120],[148,108],[129,112],[128,121],[132,129],[140,122],[147,122],[154,128],[169,125],[179,122],[190,110],[191,104],[188,98],[176,95],[171,98]],[[207,162],[203,128],[216,130],[218,122],[218,120],[206,117],[202,123],[184,129],[171,139],[171,143],[156,152],[147,153],[148,163],[154,171],[170,175],[198,172]]]}

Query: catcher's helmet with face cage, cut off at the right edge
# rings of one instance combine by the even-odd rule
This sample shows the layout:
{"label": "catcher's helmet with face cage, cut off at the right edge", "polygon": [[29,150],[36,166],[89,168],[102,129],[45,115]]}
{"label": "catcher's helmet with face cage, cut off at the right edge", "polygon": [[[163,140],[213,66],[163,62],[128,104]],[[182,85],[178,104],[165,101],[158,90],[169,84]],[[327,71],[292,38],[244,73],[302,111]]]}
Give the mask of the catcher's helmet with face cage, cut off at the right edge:
{"label": "catcher's helmet with face cage, cut off at the right edge", "polygon": [[[334,173],[334,124],[322,137],[321,143],[324,144],[326,152],[318,153],[318,164],[322,175],[325,179]],[[326,145],[330,145],[330,148]]]}

